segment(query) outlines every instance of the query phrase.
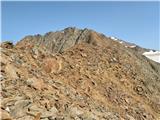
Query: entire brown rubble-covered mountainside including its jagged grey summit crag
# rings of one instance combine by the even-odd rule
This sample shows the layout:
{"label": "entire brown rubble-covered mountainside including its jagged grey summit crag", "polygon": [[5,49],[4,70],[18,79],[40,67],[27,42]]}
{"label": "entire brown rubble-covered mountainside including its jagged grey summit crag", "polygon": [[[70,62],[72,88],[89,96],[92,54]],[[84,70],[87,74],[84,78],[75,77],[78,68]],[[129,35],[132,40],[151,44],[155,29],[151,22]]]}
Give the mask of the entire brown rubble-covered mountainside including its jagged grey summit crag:
{"label": "entire brown rubble-covered mountainside including its jagged grey summit crag", "polygon": [[2,120],[159,120],[160,64],[143,50],[76,28],[3,43]]}

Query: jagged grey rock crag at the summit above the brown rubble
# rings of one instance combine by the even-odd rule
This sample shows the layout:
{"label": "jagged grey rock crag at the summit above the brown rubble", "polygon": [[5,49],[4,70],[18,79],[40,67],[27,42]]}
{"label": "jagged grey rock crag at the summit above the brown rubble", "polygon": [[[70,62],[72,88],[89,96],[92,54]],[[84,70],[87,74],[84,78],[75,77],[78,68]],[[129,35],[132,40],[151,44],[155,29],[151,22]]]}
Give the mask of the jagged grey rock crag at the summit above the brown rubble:
{"label": "jagged grey rock crag at the summit above the brown rubble", "polygon": [[44,36],[26,36],[16,44],[16,47],[21,49],[37,47],[52,53],[59,53],[82,41],[87,42],[91,32],[88,29],[69,27],[57,32],[48,32]]}

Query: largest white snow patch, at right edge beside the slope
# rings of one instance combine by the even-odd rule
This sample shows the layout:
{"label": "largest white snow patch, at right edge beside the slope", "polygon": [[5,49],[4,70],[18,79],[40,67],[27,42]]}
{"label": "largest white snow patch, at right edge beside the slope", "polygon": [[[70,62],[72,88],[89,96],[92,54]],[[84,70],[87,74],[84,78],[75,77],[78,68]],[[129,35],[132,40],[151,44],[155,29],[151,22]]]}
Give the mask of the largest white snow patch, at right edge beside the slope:
{"label": "largest white snow patch, at right edge beside the slope", "polygon": [[146,56],[147,58],[160,63],[160,51],[149,51],[149,52],[144,52],[143,53],[144,56]]}

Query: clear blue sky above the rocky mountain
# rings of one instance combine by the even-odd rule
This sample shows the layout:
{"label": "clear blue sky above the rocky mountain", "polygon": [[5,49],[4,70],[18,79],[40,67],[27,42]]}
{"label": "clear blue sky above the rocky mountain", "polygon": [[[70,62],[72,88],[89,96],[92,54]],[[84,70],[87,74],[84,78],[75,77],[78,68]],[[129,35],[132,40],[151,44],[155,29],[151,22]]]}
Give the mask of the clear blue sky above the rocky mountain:
{"label": "clear blue sky above the rocky mountain", "polygon": [[157,2],[2,2],[2,40],[66,27],[90,28],[145,48],[160,49]]}

